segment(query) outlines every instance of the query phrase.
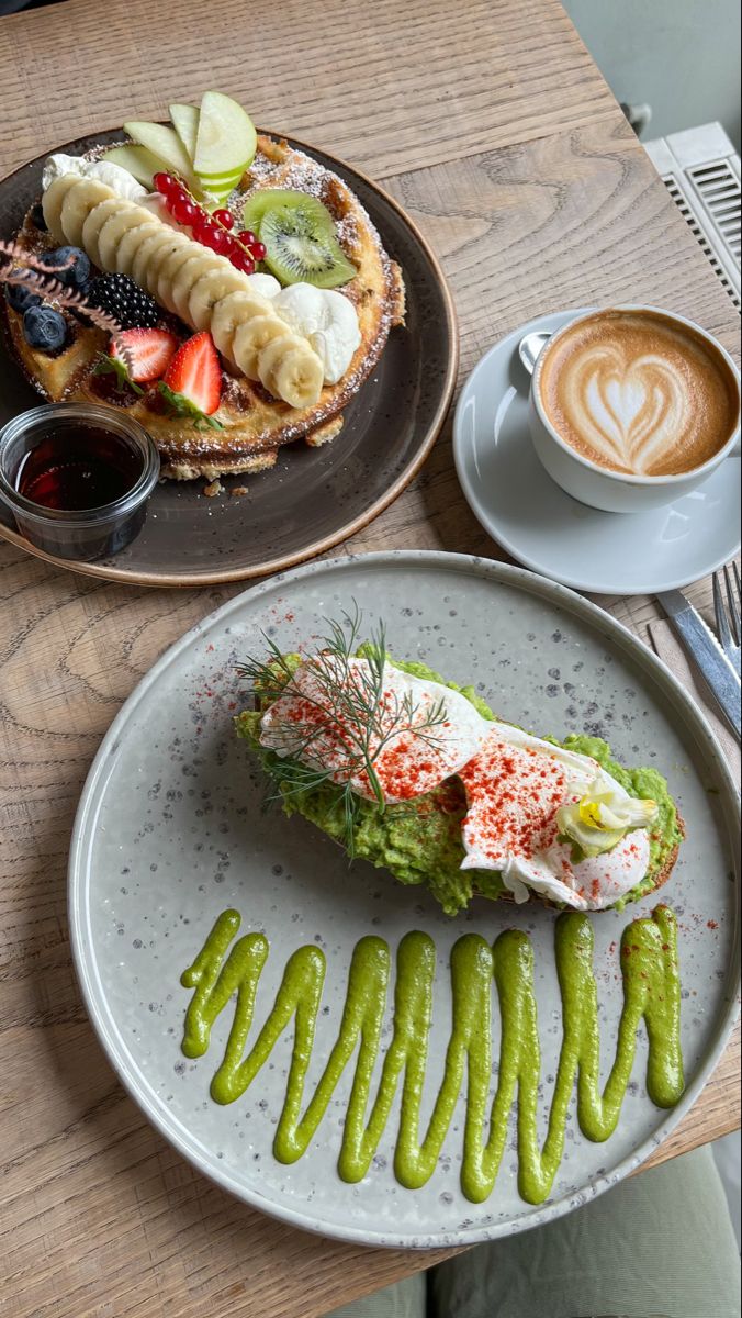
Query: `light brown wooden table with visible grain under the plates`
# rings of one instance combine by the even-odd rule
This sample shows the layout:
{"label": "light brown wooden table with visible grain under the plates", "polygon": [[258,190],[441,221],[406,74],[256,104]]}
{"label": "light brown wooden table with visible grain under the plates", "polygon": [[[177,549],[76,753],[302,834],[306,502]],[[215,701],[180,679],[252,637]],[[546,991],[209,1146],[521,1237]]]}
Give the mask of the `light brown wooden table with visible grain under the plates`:
{"label": "light brown wooden table with visible grain under the plates", "polygon": [[[70,0],[0,20],[0,170],[207,87],[384,182],[443,260],[461,378],[539,312],[644,301],[731,351],[734,308],[555,0]],[[498,556],[451,428],[352,542]],[[349,548],[351,546],[348,546]],[[240,588],[146,592],[0,544],[3,1281],[8,1318],[314,1318],[431,1255],[289,1230],[191,1170],[109,1070],[70,963],[78,795],[121,701]],[[692,596],[708,609],[709,584]],[[646,598],[601,601],[641,635]],[[652,1161],[739,1124],[738,1037]]]}

